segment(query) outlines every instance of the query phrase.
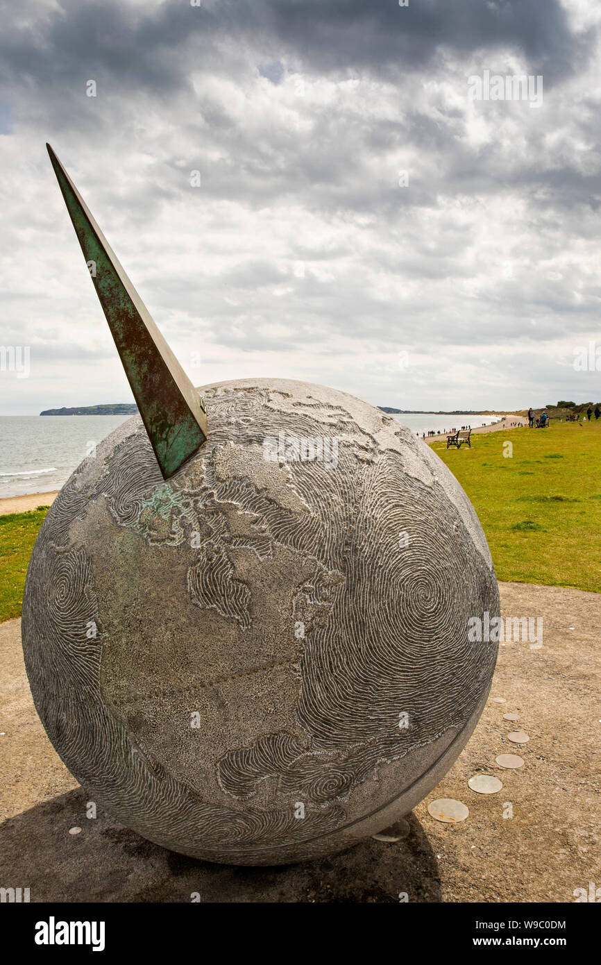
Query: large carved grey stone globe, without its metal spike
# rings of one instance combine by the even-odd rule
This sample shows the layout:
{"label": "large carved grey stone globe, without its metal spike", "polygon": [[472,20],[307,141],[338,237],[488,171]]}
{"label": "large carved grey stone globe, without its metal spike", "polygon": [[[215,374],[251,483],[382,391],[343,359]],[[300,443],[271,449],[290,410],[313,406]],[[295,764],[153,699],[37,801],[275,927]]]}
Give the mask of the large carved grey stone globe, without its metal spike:
{"label": "large carved grey stone globe, without its metal spike", "polygon": [[390,415],[283,379],[198,391],[205,442],[169,478],[136,416],[48,511],[27,673],[126,826],[212,862],[310,859],[411,811],[465,746],[494,568],[459,484]]}

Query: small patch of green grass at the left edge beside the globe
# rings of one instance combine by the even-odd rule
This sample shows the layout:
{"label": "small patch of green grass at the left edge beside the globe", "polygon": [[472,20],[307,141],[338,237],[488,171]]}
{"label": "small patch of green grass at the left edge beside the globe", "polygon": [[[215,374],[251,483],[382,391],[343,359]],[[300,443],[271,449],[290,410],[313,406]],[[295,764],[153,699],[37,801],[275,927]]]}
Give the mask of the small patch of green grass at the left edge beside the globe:
{"label": "small patch of green grass at the left edge beside the globe", "polygon": [[0,516],[0,621],[20,616],[27,565],[47,511]]}

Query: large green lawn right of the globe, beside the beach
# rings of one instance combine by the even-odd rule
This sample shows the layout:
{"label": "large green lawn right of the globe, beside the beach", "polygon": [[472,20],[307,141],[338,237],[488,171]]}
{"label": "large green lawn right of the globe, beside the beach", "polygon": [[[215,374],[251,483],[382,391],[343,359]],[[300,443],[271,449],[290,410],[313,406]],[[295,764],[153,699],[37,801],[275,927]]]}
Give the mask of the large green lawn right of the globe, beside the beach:
{"label": "large green lawn right of the globe, beside the beach", "polygon": [[446,445],[432,449],[472,500],[500,580],[601,593],[601,420]]}

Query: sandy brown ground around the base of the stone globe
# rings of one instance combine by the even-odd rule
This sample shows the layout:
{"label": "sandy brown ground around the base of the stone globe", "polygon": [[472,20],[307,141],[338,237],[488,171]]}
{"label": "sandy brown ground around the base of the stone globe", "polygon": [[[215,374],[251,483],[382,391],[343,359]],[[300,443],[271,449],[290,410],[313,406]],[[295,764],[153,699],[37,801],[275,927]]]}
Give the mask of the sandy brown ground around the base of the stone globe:
{"label": "sandy brown ground around the base of the stone globe", "polygon": [[[506,643],[478,728],[450,773],[408,815],[397,843],[369,839],[328,859],[275,869],[209,865],[139,838],[98,811],[55,754],[23,667],[19,620],[0,624],[0,883],[32,901],[574,901],[601,885],[599,692],[601,594],[501,584],[504,616],[542,617],[543,646]],[[506,703],[495,703],[503,697]],[[519,722],[504,713],[520,715]],[[507,733],[523,730],[521,748]],[[520,770],[495,758],[518,754]],[[467,782],[498,776],[496,794]],[[452,797],[465,822],[441,824],[429,801]],[[508,807],[510,805],[510,809]],[[504,817],[509,811],[511,817]],[[76,835],[69,829],[81,828]]]}

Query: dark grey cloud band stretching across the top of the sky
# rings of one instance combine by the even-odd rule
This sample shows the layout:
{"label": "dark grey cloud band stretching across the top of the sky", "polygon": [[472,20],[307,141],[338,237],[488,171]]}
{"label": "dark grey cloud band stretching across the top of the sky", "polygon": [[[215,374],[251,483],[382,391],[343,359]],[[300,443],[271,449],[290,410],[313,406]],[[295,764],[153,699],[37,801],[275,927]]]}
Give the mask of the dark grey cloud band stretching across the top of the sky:
{"label": "dark grey cloud band stretching across the top of the sky", "polygon": [[[570,29],[559,0],[545,0],[544,6],[540,0],[411,0],[400,9],[386,0],[208,0],[197,8],[63,0],[35,32],[5,18],[0,54],[4,70],[21,77],[60,84],[85,67],[160,92],[180,87],[184,78],[186,62],[174,58],[174,50],[201,41],[197,49],[218,69],[212,44],[223,36],[260,41],[265,49],[281,46],[319,71],[388,75],[422,69],[441,48],[465,54],[509,44],[550,82],[578,69],[592,42],[591,31]],[[277,60],[262,70],[274,83],[281,79]]]}

